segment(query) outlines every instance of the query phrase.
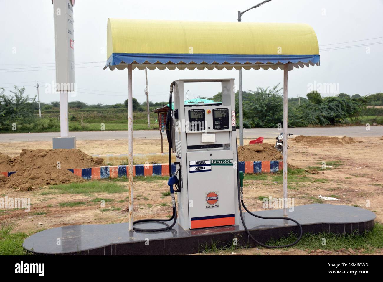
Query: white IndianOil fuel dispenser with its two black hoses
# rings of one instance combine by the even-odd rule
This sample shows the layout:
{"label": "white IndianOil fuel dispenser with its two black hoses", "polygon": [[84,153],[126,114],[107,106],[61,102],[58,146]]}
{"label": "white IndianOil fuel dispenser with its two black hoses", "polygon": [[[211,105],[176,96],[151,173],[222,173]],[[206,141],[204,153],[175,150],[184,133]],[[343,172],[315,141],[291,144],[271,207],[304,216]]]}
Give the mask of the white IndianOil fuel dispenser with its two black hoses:
{"label": "white IndianOil fuel dispenser with its two black hoses", "polygon": [[[221,82],[222,102],[185,103],[184,84]],[[172,110],[172,97],[174,109]],[[298,221],[288,217],[264,217],[249,211],[242,197],[243,172],[237,166],[236,113],[234,79],[180,79],[170,84],[169,111],[166,121],[169,142],[169,167],[171,152],[175,152],[176,169],[169,169],[170,195],[173,215],[169,219],[144,219],[134,224],[158,221],[171,225],[158,229],[136,231],[164,231],[178,222],[183,229],[211,228],[239,225],[255,243],[267,248],[293,246],[301,239],[303,231]],[[179,218],[174,193],[177,192]],[[257,241],[247,229],[241,206],[252,216],[263,219],[283,219],[295,222],[298,239],[285,246],[268,246]]]}

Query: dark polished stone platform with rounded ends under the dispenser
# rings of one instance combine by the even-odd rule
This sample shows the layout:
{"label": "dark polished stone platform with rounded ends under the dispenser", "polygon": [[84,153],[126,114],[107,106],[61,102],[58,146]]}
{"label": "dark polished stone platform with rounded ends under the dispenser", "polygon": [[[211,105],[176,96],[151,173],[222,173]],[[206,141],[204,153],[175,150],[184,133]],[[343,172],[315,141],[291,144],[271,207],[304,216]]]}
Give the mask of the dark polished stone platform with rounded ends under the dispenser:
{"label": "dark polished stone platform with rounded ends under the dispenser", "polygon": [[[282,216],[282,210],[255,212],[262,216]],[[293,221],[265,220],[243,213],[247,228],[261,243],[271,238],[298,233]],[[372,230],[375,213],[363,208],[345,205],[311,204],[295,207],[288,216],[297,220],[303,232],[337,234]],[[159,228],[164,224],[141,223],[141,228]],[[184,230],[176,224],[162,232],[129,231],[128,223],[109,225],[72,225],[44,230],[25,239],[24,249],[40,255],[180,255],[205,249],[206,244],[218,247],[232,244],[256,246],[244,231],[242,223],[235,226]],[[218,243],[217,243],[218,242]]]}

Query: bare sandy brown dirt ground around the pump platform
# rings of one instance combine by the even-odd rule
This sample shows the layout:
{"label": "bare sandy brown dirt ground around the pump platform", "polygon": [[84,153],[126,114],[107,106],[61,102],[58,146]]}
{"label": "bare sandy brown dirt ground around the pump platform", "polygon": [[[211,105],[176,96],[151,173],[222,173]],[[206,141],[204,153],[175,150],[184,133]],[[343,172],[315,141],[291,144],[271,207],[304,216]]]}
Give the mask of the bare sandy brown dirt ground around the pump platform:
{"label": "bare sandy brown dirt ground around the pump platform", "polygon": [[[291,138],[292,139],[292,138]],[[290,140],[290,139],[289,139]],[[334,205],[358,205],[373,211],[376,214],[375,222],[383,221],[383,141],[379,137],[354,138],[356,143],[319,142],[306,143],[289,141],[288,161],[301,168],[321,167],[322,162],[332,165],[318,174],[308,174],[313,179],[310,182],[294,183],[296,189],[289,189],[289,197],[295,198],[295,205],[313,203],[319,195],[339,197],[338,201],[324,201]],[[274,139],[265,139],[264,142],[273,144]],[[249,140],[244,143],[248,144]],[[21,149],[49,149],[50,142],[28,143],[1,143],[0,152],[8,155],[19,154]],[[127,141],[77,141],[77,148],[83,152],[93,154],[126,154]],[[160,152],[160,140],[134,140],[135,153]],[[128,221],[128,213],[123,210],[128,205],[128,182],[118,182],[126,192],[123,193],[93,193],[86,194],[51,194],[49,188],[16,192],[15,189],[0,189],[2,197],[31,198],[31,211],[0,210],[0,221],[15,221],[17,226],[14,232],[26,233],[37,230],[65,225],[77,224],[107,224]],[[265,183],[260,180],[244,180],[244,201],[250,210],[262,210],[260,195],[280,198],[282,197],[282,182]],[[134,182],[134,216],[135,219],[155,217],[166,218],[171,213],[170,197],[163,196],[168,186],[165,180],[136,181]],[[95,198],[107,198],[113,201],[106,202],[105,207],[100,203],[91,202]],[[87,202],[77,207],[60,207],[62,202]],[[369,203],[369,204],[368,204]],[[107,211],[101,211],[102,209]],[[121,210],[119,210],[121,209]],[[375,254],[381,254],[378,250]],[[227,254],[225,252],[224,254]],[[230,253],[229,253],[230,254]],[[338,252],[317,252],[315,250],[289,249],[244,249],[236,250],[234,254],[275,254],[275,255],[324,255],[339,254]],[[343,254],[343,253],[341,253]]]}

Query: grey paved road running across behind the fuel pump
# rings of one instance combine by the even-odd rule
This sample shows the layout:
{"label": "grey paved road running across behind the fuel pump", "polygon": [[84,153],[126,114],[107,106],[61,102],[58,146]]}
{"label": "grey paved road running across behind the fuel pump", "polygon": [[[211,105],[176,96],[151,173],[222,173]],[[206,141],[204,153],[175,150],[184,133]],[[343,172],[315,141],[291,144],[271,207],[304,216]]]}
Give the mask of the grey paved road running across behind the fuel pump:
{"label": "grey paved road running across behind the fuel pump", "polygon": [[[281,131],[275,128],[252,128],[244,130],[244,138],[275,138]],[[349,136],[349,137],[378,137],[383,136],[383,126],[371,126],[366,130],[365,126],[343,126],[322,128],[291,128],[288,131],[297,135],[306,136]],[[128,131],[82,131],[73,132],[77,140],[112,140],[128,139]],[[164,132],[164,138],[166,133]],[[237,131],[237,137],[239,132]],[[0,142],[27,142],[27,141],[52,141],[53,137],[60,137],[58,132],[47,133],[11,133],[0,134]],[[133,132],[134,138],[159,139],[158,130],[137,130]]]}

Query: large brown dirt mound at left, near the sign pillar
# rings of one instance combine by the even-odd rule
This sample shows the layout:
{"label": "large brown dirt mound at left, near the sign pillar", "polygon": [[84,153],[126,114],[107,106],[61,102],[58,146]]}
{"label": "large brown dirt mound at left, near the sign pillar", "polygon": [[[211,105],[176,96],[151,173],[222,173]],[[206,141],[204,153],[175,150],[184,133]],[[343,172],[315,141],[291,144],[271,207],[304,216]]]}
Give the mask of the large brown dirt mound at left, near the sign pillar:
{"label": "large brown dirt mound at left, near the sign pillar", "polygon": [[16,188],[23,191],[34,187],[80,182],[83,179],[68,169],[95,167],[103,164],[101,158],[91,156],[76,149],[23,149],[20,156],[13,158],[2,155],[0,171],[16,171],[9,177],[0,179],[0,188]]}

